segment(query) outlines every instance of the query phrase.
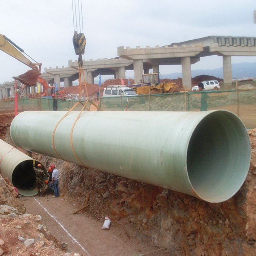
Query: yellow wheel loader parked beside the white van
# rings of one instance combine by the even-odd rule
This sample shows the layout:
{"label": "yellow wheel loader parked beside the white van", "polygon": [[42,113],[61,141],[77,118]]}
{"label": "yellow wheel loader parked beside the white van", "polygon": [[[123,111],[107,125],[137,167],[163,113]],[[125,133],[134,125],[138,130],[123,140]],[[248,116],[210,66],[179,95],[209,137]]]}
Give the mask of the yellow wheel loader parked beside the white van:
{"label": "yellow wheel loader parked beside the white van", "polygon": [[[158,73],[150,73],[142,75],[142,83],[133,84],[131,88],[138,94],[148,94],[150,88],[151,94],[163,94],[163,93],[177,93],[179,92],[176,83],[172,82],[160,82],[160,75]],[[150,86],[150,87],[149,87]]]}

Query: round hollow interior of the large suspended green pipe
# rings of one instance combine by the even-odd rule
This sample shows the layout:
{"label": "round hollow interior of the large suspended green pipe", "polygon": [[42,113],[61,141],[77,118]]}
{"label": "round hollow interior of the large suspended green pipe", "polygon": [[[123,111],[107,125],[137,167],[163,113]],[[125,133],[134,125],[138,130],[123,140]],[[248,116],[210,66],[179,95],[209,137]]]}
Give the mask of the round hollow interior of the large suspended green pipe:
{"label": "round hollow interior of the large suspended green pipe", "polygon": [[242,121],[229,112],[213,112],[198,124],[189,141],[190,183],[203,200],[225,201],[242,186],[250,159],[250,139]]}

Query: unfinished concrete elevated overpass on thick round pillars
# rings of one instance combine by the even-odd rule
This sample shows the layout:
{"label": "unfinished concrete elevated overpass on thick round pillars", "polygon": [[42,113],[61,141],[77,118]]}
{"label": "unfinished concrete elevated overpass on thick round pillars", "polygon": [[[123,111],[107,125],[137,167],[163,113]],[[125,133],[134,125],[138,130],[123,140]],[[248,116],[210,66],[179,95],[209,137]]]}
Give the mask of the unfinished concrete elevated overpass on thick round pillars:
{"label": "unfinished concrete elevated overpass on thick round pillars", "polygon": [[[125,79],[125,71],[134,71],[134,82],[140,83],[142,74],[159,72],[161,65],[181,65],[183,86],[191,89],[191,65],[200,61],[200,58],[217,55],[223,59],[223,80],[225,85],[232,82],[232,56],[256,56],[255,37],[222,37],[209,36],[188,40],[180,43],[172,43],[165,46],[141,48],[117,47],[116,58],[83,60],[85,80],[88,84],[94,84],[94,78],[101,75],[114,75],[115,78]],[[65,87],[72,86],[73,81],[79,77],[77,61],[68,61],[68,67],[45,68],[41,75],[50,85],[55,83],[60,86],[64,82]],[[170,67],[171,73],[171,67]],[[10,83],[0,84],[0,98],[4,95],[12,95]],[[6,91],[7,90],[7,91]]]}

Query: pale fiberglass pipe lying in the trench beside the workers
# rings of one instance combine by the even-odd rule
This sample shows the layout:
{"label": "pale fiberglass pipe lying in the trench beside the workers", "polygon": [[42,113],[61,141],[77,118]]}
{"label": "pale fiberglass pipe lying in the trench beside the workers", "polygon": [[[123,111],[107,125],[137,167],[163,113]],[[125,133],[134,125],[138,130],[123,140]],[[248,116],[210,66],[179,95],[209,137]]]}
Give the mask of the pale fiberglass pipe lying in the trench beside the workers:
{"label": "pale fiberglass pipe lying in the trench beside the workers", "polygon": [[[46,179],[47,171],[44,165],[35,160],[36,166],[39,163],[42,165]],[[37,195],[33,159],[3,140],[0,140],[0,172],[8,177],[20,195]]]}

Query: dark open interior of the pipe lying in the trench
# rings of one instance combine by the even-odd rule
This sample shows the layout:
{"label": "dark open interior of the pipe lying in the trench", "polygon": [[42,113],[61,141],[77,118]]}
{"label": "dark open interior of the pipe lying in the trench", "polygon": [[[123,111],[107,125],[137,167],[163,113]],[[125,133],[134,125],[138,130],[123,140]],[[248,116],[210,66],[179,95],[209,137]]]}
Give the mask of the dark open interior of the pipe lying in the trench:
{"label": "dark open interior of the pipe lying in the trench", "polygon": [[[39,163],[40,162],[35,161],[35,166],[37,166]],[[47,175],[47,172],[43,165],[42,168]],[[45,180],[46,179],[47,176],[45,176]],[[12,174],[12,184],[18,189],[20,195],[37,195],[37,183],[35,180],[35,172],[33,169],[33,160],[22,161],[15,167]]]}

